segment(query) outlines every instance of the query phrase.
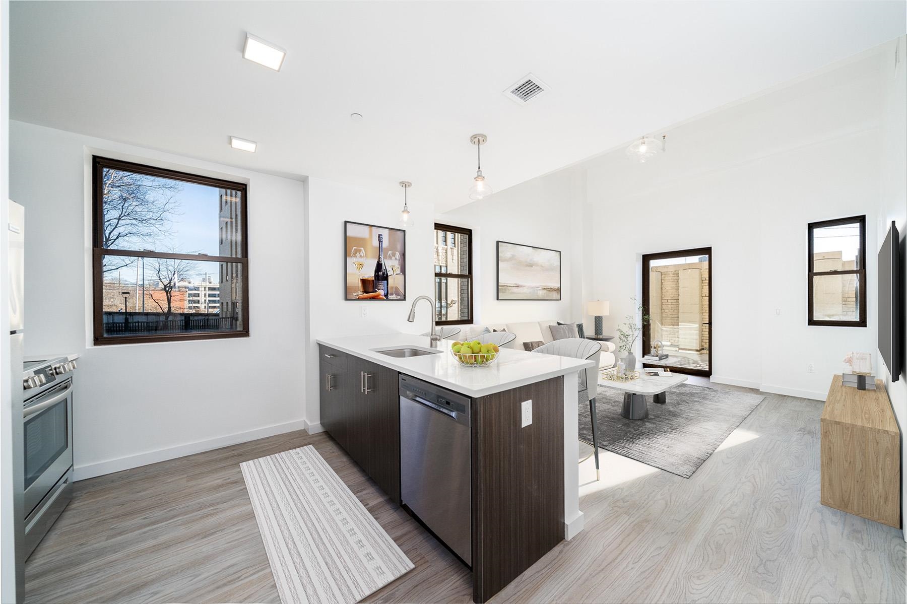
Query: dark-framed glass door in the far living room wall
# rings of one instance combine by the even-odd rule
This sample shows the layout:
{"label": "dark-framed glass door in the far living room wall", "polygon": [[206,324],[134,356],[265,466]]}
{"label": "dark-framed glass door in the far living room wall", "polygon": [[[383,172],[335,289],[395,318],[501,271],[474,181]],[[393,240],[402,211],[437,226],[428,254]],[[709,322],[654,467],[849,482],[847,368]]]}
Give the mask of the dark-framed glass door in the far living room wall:
{"label": "dark-framed glass door in the far living room wall", "polygon": [[642,306],[643,366],[712,375],[712,248],[644,254]]}

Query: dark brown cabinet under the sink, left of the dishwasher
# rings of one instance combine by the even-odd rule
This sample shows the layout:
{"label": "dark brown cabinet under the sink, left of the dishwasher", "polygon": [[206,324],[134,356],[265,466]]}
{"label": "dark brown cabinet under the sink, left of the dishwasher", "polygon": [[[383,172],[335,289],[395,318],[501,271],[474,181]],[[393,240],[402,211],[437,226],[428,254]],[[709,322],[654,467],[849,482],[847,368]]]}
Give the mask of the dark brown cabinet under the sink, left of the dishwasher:
{"label": "dark brown cabinet under the sink, left of the dishwasher", "polygon": [[321,355],[321,425],[395,503],[400,502],[397,372],[327,346]]}

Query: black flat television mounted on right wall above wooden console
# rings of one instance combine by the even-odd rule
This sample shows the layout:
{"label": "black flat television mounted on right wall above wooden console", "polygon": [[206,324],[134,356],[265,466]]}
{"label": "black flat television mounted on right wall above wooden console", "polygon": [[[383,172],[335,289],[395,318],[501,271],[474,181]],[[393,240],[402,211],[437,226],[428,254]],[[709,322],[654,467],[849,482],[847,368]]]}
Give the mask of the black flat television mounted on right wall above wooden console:
{"label": "black flat television mounted on right wall above wooden console", "polygon": [[879,353],[892,375],[892,382],[901,376],[902,339],[902,268],[901,238],[892,220],[882,247],[879,248]]}

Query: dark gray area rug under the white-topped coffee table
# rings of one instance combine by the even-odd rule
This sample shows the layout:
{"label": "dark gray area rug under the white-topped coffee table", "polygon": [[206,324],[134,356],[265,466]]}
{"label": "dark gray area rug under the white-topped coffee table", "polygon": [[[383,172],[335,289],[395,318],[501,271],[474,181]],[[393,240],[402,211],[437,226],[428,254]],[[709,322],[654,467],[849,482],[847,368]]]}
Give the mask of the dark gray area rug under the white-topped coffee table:
{"label": "dark gray area rug under the white-topped coffee table", "polygon": [[[668,390],[666,404],[647,397],[649,417],[620,416],[623,393],[599,386],[595,399],[599,446],[661,470],[689,478],[765,396],[681,384]],[[589,399],[580,395],[580,440],[592,443]]]}

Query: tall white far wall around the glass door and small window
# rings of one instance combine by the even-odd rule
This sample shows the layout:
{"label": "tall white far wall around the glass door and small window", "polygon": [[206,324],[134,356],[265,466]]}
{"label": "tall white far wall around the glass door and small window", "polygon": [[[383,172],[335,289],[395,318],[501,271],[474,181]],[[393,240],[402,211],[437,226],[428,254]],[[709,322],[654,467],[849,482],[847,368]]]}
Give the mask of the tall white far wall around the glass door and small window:
{"label": "tall white far wall around the glass door and small window", "polygon": [[641,293],[641,254],[710,246],[713,379],[824,400],[844,355],[876,348],[875,255],[868,326],[807,326],[806,224],[866,214],[875,249],[879,92],[877,55],[863,55],[678,125],[647,163],[620,149],[582,164],[606,331]]}

